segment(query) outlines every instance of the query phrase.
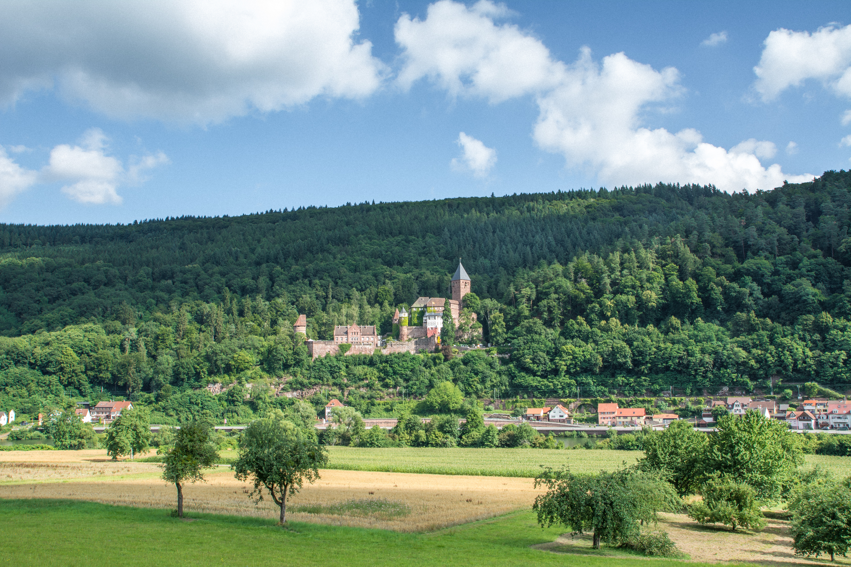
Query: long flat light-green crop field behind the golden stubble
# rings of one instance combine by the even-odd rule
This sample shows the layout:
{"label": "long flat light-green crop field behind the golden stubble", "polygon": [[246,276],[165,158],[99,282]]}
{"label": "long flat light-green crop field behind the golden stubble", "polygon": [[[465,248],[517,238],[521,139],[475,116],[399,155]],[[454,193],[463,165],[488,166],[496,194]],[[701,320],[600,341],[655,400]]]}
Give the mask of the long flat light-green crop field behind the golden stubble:
{"label": "long flat light-green crop field behind the golden stubble", "polygon": [[[388,473],[470,474],[534,477],[540,465],[568,466],[576,473],[612,470],[624,462],[634,464],[642,451],[544,451],[540,449],[443,449],[404,447],[370,449],[328,447],[327,468],[384,471]],[[807,455],[807,465],[821,464],[839,476],[851,475],[851,457]]]}

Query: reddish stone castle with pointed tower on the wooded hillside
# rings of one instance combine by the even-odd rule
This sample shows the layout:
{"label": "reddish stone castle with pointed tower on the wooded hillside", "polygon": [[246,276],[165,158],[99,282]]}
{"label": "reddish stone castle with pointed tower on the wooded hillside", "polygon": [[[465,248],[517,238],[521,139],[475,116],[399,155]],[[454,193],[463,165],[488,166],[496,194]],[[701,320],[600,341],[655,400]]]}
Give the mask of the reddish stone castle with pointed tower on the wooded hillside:
{"label": "reddish stone castle with pointed tower on the wooded hillside", "polygon": [[[452,319],[458,325],[461,312],[461,300],[470,292],[470,276],[464,266],[458,260],[458,269],[452,276],[449,284],[452,299],[449,299],[449,309],[452,311]],[[425,349],[433,352],[440,342],[440,330],[443,328],[443,309],[446,299],[444,298],[417,298],[411,305],[410,312],[404,308],[398,309],[393,314],[393,338],[394,341],[384,347],[377,330],[371,325],[335,326],[333,341],[307,340],[307,352],[311,359],[325,354],[337,354],[340,352],[340,344],[351,345],[345,354],[374,354],[380,349],[382,354],[410,352],[417,353]],[[475,316],[475,315],[474,315]],[[293,326],[294,332],[305,333],[307,331],[307,318],[299,315]]]}

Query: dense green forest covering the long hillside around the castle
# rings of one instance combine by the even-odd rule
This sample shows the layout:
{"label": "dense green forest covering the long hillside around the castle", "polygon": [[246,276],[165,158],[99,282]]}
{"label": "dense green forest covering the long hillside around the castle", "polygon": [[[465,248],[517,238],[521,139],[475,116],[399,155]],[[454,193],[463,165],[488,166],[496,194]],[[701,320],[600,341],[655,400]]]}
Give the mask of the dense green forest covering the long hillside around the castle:
{"label": "dense green forest covering the long hillside around the castle", "polygon": [[[465,395],[711,394],[851,384],[851,172],[729,195],[656,184],[301,207],[117,225],[0,225],[0,409],[117,393],[158,417],[246,420],[324,388],[357,403]],[[483,352],[309,360],[448,297],[463,258]],[[463,341],[464,337],[460,337]],[[768,381],[772,381],[768,383]],[[208,383],[237,382],[224,394]],[[285,383],[284,383],[285,382]],[[243,388],[243,384],[253,384]],[[400,390],[401,392],[401,390]],[[317,401],[317,405],[318,405]]]}

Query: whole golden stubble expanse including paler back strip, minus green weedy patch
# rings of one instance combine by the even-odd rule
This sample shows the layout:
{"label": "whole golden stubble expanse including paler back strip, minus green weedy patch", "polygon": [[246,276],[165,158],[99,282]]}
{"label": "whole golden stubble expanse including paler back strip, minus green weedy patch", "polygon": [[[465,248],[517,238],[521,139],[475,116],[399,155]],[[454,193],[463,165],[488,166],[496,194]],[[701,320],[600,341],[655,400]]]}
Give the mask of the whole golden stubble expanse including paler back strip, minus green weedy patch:
{"label": "whole golden stubble expanse including paler back strip, minus green weedy patch", "polygon": [[[100,454],[59,455],[71,451],[28,451],[29,459],[14,456],[17,462],[3,462],[9,451],[0,454],[0,471],[14,470],[14,478],[0,477],[3,498],[71,498],[122,506],[174,508],[176,490],[157,478],[155,464],[108,462]],[[23,451],[21,451],[23,452]],[[40,452],[43,455],[33,455]],[[84,453],[86,451],[74,451]],[[52,459],[38,462],[37,459]],[[77,474],[76,478],[72,478]],[[230,469],[207,474],[208,482],[186,485],[184,507],[187,513],[221,513],[276,519],[278,509],[266,496],[259,505],[248,499],[249,485],[237,481]],[[401,502],[411,513],[397,518],[375,515],[337,515],[288,512],[288,519],[383,528],[396,531],[437,530],[477,519],[486,519],[521,509],[529,509],[535,490],[532,479],[502,477],[448,476],[442,474],[374,473],[368,471],[323,470],[322,479],[306,485],[288,502],[288,509],[311,505],[333,505],[363,499]]]}

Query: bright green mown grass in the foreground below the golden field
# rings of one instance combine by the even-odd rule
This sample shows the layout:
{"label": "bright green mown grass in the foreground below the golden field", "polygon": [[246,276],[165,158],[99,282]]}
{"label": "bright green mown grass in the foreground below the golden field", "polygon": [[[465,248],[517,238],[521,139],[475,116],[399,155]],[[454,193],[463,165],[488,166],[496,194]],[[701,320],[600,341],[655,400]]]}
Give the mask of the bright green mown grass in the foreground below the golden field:
{"label": "bright green mown grass in the foreground below the golden field", "polygon": [[[193,514],[56,500],[0,501],[3,561],[10,565],[563,565],[563,555],[530,549],[564,530],[542,530],[534,514],[517,513],[431,534],[399,534],[319,524]],[[33,536],[49,534],[49,545]],[[99,559],[102,558],[102,559]],[[571,555],[571,565],[623,564],[623,558]],[[649,560],[648,566],[677,564]],[[700,564],[693,564],[698,566]]]}

